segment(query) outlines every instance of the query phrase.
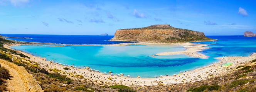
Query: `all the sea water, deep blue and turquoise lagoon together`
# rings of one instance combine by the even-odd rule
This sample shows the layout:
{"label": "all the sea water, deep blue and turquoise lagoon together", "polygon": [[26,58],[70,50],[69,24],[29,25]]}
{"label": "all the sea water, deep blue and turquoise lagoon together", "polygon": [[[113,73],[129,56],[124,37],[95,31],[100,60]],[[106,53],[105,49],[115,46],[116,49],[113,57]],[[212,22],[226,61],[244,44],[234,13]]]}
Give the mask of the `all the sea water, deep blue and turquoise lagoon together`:
{"label": "all the sea water, deep blue and turquoise lagoon together", "polygon": [[[11,48],[47,58],[66,66],[91,67],[108,74],[125,74],[130,77],[159,77],[191,71],[199,67],[218,62],[222,56],[249,56],[256,52],[256,37],[244,36],[207,36],[217,41],[194,42],[208,44],[209,49],[199,53],[209,56],[207,59],[194,58],[184,54],[150,56],[162,52],[184,51],[183,46],[163,44],[129,46],[63,46],[61,44],[116,44],[128,43],[108,41],[114,36],[85,35],[14,35],[3,36],[29,37],[32,39],[10,38],[16,41],[58,43],[58,46],[20,45]],[[61,45],[61,46],[59,46]]]}

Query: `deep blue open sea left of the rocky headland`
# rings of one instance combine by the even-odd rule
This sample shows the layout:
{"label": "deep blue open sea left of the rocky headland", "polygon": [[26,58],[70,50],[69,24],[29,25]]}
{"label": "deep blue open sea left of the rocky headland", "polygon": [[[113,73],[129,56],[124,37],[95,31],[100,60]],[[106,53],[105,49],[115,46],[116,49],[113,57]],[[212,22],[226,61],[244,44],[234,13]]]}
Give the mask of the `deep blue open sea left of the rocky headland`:
{"label": "deep blue open sea left of the rocky headland", "polygon": [[91,35],[24,35],[24,34],[2,34],[8,37],[27,37],[32,39],[8,38],[16,41],[59,43],[59,44],[116,44],[128,43],[120,41],[107,41],[114,36],[91,36]]}

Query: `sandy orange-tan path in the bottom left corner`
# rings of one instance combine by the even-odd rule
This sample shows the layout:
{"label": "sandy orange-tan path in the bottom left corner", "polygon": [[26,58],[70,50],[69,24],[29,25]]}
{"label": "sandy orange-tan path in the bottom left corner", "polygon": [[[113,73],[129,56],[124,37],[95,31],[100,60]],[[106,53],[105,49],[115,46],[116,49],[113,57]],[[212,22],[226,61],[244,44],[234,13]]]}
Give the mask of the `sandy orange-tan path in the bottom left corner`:
{"label": "sandy orange-tan path in the bottom left corner", "polygon": [[21,77],[19,76],[19,73],[15,70],[12,69],[11,67],[1,63],[1,66],[5,67],[6,69],[9,70],[10,79],[5,80],[7,83],[7,90],[5,92],[27,92],[26,86],[24,82],[22,81]]}

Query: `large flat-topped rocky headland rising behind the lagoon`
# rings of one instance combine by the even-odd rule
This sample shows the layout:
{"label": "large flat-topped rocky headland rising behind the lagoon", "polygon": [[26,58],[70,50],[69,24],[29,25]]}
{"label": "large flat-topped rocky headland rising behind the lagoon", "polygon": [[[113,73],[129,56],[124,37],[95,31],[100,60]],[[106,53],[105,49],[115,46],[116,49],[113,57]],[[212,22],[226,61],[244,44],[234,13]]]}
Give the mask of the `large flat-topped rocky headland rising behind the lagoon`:
{"label": "large flat-topped rocky headland rising behind the lagoon", "polygon": [[116,30],[111,41],[138,41],[148,43],[177,43],[214,40],[204,33],[174,28],[170,25],[152,25],[144,28]]}

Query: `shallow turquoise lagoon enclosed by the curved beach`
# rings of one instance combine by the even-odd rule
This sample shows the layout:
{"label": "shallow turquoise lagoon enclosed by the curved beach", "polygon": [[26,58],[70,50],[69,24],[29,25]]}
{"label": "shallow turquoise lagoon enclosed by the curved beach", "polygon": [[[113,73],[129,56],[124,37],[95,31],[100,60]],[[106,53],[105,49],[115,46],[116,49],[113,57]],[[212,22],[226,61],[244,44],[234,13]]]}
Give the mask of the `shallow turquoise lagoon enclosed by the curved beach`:
{"label": "shallow turquoise lagoon enclosed by the curved beach", "polygon": [[[182,46],[169,45],[131,45],[131,46],[13,46],[35,56],[45,57],[62,64],[74,66],[89,66],[100,72],[112,71],[131,77],[155,77],[166,74],[179,74],[179,71],[189,71],[206,66],[216,61],[213,58],[199,59],[183,54],[166,56],[149,56],[170,51],[184,51]],[[56,60],[55,60],[56,59]]]}

